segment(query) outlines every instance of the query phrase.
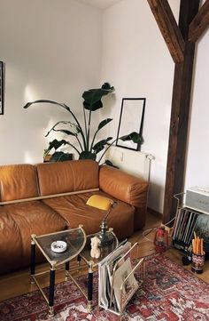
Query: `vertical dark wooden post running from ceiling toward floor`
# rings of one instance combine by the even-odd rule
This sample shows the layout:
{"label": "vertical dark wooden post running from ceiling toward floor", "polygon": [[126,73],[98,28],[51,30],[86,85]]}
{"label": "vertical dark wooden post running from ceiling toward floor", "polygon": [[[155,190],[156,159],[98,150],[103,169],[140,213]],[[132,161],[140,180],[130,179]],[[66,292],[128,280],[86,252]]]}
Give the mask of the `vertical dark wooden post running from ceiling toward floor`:
{"label": "vertical dark wooden post running from ceiling toward floor", "polygon": [[170,221],[176,212],[174,194],[183,191],[187,133],[190,115],[190,92],[195,44],[188,41],[190,22],[198,12],[199,0],[182,0],[179,28],[185,41],[184,59],[176,63],[167,152],[166,188],[163,221]]}

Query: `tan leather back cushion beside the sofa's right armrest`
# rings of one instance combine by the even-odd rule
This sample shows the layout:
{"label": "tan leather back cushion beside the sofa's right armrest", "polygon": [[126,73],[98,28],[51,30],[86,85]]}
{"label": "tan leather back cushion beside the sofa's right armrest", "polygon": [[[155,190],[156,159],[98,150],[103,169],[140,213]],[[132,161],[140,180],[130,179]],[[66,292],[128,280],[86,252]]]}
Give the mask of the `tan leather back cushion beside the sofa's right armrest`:
{"label": "tan leather back cushion beside the sofa's right armrest", "polygon": [[83,159],[37,165],[40,195],[98,188],[98,164]]}

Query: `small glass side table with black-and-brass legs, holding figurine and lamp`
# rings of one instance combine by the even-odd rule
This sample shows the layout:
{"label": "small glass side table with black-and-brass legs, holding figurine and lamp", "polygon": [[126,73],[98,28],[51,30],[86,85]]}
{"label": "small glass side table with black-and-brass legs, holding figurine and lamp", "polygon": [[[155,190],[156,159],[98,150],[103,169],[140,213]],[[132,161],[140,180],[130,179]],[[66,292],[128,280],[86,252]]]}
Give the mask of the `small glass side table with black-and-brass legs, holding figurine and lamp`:
{"label": "small glass side table with black-and-brass legs, holding figurine and lamp", "polygon": [[66,272],[68,276],[73,280],[74,284],[78,286],[81,293],[85,296],[88,301],[87,309],[89,312],[93,309],[92,305],[92,296],[93,296],[93,273],[97,270],[97,266],[100,261],[102,261],[108,254],[112,253],[112,251],[119,245],[118,238],[113,233],[113,229],[109,229],[106,231],[107,235],[109,234],[112,237],[112,243],[109,245],[103,245],[100,248],[100,256],[98,259],[92,258],[90,256],[91,245],[90,241],[92,237],[99,237],[99,233],[91,234],[87,236],[86,245],[82,249],[81,253],[78,255],[78,263],[80,264],[81,260],[84,261],[88,266],[88,291],[87,293],[78,285],[76,279],[72,276],[68,271]]}

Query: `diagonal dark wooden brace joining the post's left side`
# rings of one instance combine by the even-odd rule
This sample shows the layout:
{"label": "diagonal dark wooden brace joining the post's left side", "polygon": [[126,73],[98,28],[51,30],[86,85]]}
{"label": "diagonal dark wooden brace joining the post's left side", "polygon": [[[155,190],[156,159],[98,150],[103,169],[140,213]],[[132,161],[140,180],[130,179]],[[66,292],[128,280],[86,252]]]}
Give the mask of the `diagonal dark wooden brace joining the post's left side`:
{"label": "diagonal dark wooden brace joining the post's left side", "polygon": [[175,63],[182,62],[184,40],[167,0],[147,0]]}

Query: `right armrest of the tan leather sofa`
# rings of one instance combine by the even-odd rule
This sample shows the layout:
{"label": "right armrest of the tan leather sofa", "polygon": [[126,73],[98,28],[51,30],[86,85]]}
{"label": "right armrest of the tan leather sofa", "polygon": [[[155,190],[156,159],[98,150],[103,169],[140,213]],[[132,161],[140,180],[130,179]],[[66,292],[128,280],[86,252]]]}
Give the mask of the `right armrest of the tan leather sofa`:
{"label": "right armrest of the tan leather sofa", "polygon": [[142,229],[145,224],[148,188],[148,181],[111,166],[100,166],[99,189],[135,206],[135,229]]}

